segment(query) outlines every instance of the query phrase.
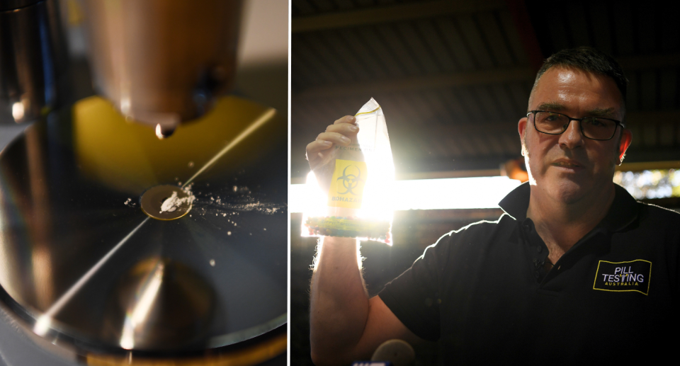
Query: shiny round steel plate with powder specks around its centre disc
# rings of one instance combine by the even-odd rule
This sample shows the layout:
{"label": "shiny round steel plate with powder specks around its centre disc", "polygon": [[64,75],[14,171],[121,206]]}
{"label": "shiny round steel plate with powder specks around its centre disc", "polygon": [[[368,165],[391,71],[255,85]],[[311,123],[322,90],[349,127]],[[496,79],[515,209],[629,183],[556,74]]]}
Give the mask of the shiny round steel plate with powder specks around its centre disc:
{"label": "shiny round steel plate with powder specks around its centre disc", "polygon": [[[101,98],[0,153],[0,299],[33,332],[88,354],[220,348],[286,321],[287,127],[223,98],[157,139]],[[174,185],[188,215],[140,200]]]}

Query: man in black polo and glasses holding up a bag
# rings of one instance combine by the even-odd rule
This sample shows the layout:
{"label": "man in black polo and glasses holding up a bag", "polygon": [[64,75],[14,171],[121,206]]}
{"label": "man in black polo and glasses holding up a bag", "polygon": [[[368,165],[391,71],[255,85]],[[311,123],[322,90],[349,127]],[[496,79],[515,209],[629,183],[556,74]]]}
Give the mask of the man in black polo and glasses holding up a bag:
{"label": "man in black polo and glasses holding up a bag", "polygon": [[[538,72],[518,130],[529,182],[497,222],[442,236],[368,299],[356,242],[324,238],[312,278],[312,359],[349,365],[383,341],[440,341],[445,364],[613,363],[670,353],[679,322],[680,215],[612,182],[630,146],[626,80],[587,47]],[[307,145],[313,169],[358,129]],[[669,338],[670,337],[670,338]]]}

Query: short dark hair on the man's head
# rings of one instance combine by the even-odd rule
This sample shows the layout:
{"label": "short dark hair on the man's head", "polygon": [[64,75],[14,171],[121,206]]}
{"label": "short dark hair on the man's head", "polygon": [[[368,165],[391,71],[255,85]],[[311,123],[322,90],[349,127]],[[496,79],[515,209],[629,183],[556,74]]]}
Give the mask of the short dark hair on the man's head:
{"label": "short dark hair on the man's head", "polygon": [[557,52],[543,62],[543,66],[540,67],[538,74],[536,74],[536,81],[533,82],[533,88],[536,88],[536,85],[538,85],[540,76],[543,76],[543,73],[554,66],[576,67],[586,72],[611,77],[616,83],[618,91],[621,91],[623,110],[625,112],[625,96],[626,91],[628,91],[628,79],[625,79],[621,65],[610,55],[596,50],[593,47],[576,47]]}

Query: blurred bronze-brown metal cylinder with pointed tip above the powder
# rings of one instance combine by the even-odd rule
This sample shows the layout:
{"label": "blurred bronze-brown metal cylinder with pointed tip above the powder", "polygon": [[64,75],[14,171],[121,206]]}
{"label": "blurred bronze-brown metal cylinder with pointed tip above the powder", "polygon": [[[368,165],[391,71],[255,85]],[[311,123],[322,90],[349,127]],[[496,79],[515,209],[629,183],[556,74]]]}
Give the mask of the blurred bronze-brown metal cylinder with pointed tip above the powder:
{"label": "blurred bronze-brown metal cylinder with pointed tip above the powder", "polygon": [[232,84],[240,0],[86,0],[98,91],[169,135]]}

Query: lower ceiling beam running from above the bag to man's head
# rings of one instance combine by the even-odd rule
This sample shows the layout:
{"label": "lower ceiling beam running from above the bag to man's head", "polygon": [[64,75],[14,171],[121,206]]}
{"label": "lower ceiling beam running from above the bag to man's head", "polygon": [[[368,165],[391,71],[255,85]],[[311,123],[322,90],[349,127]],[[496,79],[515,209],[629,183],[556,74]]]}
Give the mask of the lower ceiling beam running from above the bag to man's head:
{"label": "lower ceiling beam running from above the bag to man's head", "polygon": [[397,91],[426,90],[450,86],[503,84],[512,81],[533,81],[536,72],[531,67],[509,67],[454,74],[407,77],[401,79],[357,82],[350,84],[312,86],[295,94],[294,98],[317,99],[356,96],[361,93],[394,93]]}

